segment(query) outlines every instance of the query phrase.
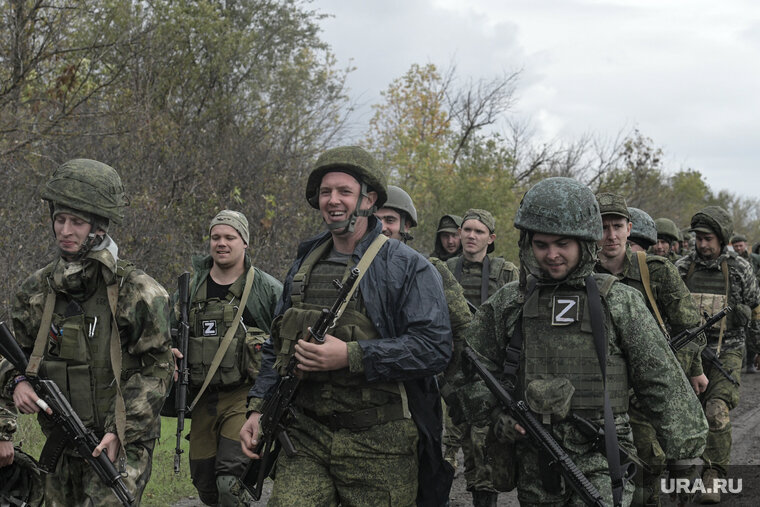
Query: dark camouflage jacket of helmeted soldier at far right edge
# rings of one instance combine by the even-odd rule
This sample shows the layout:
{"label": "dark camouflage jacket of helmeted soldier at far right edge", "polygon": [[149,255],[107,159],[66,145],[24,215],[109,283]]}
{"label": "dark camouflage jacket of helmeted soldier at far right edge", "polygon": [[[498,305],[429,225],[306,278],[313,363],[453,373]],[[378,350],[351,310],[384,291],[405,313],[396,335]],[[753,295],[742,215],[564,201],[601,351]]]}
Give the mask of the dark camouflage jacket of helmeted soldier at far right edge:
{"label": "dark camouflage jacket of helmeted soldier at far right edge", "polygon": [[[714,276],[723,278],[721,264],[727,262],[729,273],[728,304],[734,311],[727,319],[732,319],[723,334],[722,349],[744,347],[745,342],[750,351],[760,352],[760,286],[752,266],[736,252],[723,249],[723,252],[712,260],[700,258],[692,252],[676,263],[681,278],[687,283],[689,272],[710,271]],[[693,267],[692,267],[693,265]],[[707,330],[707,343],[717,347],[720,330],[713,327]]]}

